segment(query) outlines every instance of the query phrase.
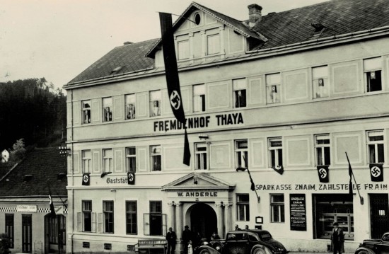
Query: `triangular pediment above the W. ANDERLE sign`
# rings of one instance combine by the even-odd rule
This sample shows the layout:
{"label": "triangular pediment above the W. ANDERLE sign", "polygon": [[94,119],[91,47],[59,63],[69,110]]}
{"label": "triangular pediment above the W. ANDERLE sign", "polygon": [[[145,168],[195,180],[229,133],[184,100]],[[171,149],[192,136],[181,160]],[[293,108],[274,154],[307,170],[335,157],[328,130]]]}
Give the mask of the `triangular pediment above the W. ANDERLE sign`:
{"label": "triangular pediment above the W. ANDERLE sign", "polygon": [[178,190],[233,190],[236,185],[215,178],[208,173],[190,173],[162,186],[163,191]]}

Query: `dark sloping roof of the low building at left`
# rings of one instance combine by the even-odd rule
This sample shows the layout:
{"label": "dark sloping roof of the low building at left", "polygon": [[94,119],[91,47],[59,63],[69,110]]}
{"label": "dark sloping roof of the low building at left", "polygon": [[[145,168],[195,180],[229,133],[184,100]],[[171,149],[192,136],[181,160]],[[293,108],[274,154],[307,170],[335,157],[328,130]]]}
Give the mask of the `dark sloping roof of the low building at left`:
{"label": "dark sloping roof of the low building at left", "polygon": [[[58,180],[59,173],[62,180]],[[35,148],[1,180],[0,197],[47,196],[48,182],[53,197],[67,196],[66,158],[57,147]]]}

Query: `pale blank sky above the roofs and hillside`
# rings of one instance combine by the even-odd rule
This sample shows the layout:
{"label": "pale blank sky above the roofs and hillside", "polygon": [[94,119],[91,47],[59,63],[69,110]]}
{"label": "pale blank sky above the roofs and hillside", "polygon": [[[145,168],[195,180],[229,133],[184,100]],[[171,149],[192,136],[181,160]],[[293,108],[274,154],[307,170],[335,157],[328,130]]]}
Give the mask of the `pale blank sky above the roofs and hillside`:
{"label": "pale blank sky above the roofs and hillside", "polygon": [[[326,0],[195,0],[240,21]],[[0,0],[0,82],[43,78],[62,88],[123,42],[161,37],[158,12],[182,14],[192,0]],[[173,16],[173,21],[177,16]]]}

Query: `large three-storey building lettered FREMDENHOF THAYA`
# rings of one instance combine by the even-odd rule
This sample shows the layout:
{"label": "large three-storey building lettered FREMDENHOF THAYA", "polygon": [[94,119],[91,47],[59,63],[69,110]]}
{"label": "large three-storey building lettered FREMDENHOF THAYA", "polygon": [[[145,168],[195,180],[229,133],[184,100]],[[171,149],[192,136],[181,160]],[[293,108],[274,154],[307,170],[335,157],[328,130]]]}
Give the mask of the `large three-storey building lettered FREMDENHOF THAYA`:
{"label": "large three-storey building lettered FREMDENHOF THAYA", "polygon": [[161,40],[115,47],[64,86],[68,253],[133,252],[170,226],[181,250],[185,225],[209,238],[235,224],[323,251],[335,221],[351,253],[388,230],[388,2],[248,13],[193,2],[173,25],[190,166]]}

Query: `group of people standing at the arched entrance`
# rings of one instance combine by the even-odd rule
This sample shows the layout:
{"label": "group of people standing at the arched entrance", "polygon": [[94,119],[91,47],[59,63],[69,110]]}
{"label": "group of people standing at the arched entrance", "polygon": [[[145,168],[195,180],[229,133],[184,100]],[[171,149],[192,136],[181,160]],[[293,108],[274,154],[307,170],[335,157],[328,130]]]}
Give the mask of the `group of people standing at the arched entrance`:
{"label": "group of people standing at the arched entrance", "polygon": [[[212,233],[211,240],[220,239],[219,235],[214,232]],[[184,245],[184,254],[193,254],[193,249],[196,246],[202,244],[204,239],[200,235],[199,232],[196,234],[190,231],[189,226],[184,227],[184,231],[182,231],[182,243]],[[177,241],[177,235],[170,227],[168,233],[166,233],[166,241],[168,241],[168,250],[167,254],[174,254],[175,252],[175,243]]]}

